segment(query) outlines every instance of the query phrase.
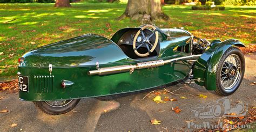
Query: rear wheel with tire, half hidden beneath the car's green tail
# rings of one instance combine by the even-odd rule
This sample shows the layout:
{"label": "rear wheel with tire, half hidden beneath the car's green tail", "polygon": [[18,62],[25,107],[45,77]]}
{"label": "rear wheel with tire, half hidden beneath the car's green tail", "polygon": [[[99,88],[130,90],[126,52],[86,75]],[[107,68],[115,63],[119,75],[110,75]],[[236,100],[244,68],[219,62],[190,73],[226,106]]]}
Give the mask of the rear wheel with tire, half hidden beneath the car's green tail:
{"label": "rear wheel with tire, half hidden beneath the car's green tail", "polygon": [[50,115],[59,115],[71,111],[76,107],[80,99],[53,100],[33,102],[42,112]]}

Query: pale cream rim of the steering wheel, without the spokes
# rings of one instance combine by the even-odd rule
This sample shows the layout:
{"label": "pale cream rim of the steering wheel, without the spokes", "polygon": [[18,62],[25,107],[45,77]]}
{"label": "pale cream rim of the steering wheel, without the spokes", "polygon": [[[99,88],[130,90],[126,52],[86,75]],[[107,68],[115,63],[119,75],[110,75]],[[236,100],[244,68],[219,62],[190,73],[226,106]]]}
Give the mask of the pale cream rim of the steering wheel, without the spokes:
{"label": "pale cream rim of the steering wheel, without the spokes", "polygon": [[[136,41],[137,41],[137,38],[138,38],[138,36],[139,36],[139,34],[140,34],[140,30],[145,30],[147,27],[150,27],[150,28],[152,28],[154,31],[156,31],[156,32],[155,32],[156,40],[154,41],[154,45],[153,45],[153,47],[150,49],[150,52],[147,52],[147,53],[145,53],[145,54],[140,54],[140,53],[137,51],[137,49],[136,49]],[[138,55],[138,56],[140,56],[140,57],[146,57],[146,56],[150,55],[150,53],[154,52],[154,49],[156,49],[157,43],[158,43],[158,31],[157,31],[156,29],[157,29],[157,28],[154,27],[153,25],[145,25],[145,26],[143,26],[143,27],[137,32],[137,34],[134,36],[133,43],[132,43],[132,48],[134,49],[134,53],[135,53],[136,55]],[[146,44],[145,44],[145,45],[146,45]]]}

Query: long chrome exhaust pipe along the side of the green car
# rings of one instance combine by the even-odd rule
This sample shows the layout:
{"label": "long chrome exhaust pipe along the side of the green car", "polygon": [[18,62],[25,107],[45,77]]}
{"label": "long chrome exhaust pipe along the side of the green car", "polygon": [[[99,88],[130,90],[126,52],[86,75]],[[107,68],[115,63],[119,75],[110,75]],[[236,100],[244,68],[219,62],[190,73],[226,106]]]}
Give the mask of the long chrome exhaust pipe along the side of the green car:
{"label": "long chrome exhaust pipe along the side of the green car", "polygon": [[178,58],[172,58],[170,60],[157,60],[157,61],[148,61],[148,62],[141,62],[134,65],[119,65],[116,67],[108,67],[108,68],[99,68],[97,70],[88,71],[88,75],[109,75],[109,74],[117,74],[121,72],[132,72],[136,69],[145,69],[145,68],[153,68],[159,67],[161,65],[169,64],[172,62],[177,62],[180,60],[190,60],[198,58],[201,55],[191,55],[191,56],[183,56]]}

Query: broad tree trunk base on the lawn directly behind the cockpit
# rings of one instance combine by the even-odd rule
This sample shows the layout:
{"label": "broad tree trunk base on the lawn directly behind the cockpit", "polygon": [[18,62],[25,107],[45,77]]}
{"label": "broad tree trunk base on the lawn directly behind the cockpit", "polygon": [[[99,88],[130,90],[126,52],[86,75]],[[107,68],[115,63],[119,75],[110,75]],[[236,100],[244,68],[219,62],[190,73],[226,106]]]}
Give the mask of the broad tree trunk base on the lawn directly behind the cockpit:
{"label": "broad tree trunk base on the lawn directly behind the cockpit", "polygon": [[132,20],[167,20],[169,17],[161,9],[160,0],[129,0],[125,12],[118,19],[130,17]]}

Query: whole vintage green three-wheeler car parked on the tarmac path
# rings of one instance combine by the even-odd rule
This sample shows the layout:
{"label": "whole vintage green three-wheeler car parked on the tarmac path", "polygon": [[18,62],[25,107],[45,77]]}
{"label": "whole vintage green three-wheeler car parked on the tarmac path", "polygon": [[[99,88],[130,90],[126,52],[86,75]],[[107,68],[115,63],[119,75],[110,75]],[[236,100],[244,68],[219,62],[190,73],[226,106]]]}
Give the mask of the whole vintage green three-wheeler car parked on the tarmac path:
{"label": "whole vintage green three-wheeler car parked on the tarmac path", "polygon": [[220,96],[234,93],[245,60],[235,39],[193,36],[153,25],[123,28],[111,39],[85,34],[42,46],[19,58],[19,98],[63,114],[81,98],[109,99],[194,80]]}

